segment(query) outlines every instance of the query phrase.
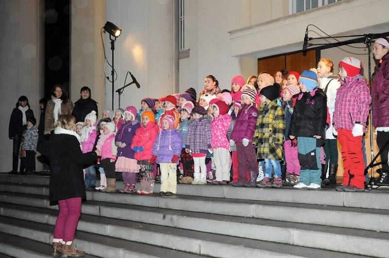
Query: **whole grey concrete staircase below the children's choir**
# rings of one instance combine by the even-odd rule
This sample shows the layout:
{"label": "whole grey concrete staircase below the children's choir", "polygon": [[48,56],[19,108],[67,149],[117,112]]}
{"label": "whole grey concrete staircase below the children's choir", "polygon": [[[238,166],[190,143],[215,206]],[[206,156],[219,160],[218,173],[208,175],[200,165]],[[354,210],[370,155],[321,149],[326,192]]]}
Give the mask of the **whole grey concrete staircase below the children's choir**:
{"label": "whole grey concrete staircase below the children's choir", "polygon": [[[50,206],[48,183],[43,176],[0,174],[4,257],[49,257],[58,207]],[[106,258],[389,257],[385,189],[178,185],[177,193],[87,192],[76,245],[87,257]]]}

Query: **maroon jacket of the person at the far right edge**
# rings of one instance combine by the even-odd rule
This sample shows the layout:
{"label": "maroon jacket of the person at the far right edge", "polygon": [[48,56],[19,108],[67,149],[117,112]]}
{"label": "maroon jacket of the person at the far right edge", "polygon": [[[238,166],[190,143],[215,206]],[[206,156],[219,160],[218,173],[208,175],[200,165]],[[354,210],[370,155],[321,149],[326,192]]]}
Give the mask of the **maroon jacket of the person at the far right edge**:
{"label": "maroon jacket of the person at the far right edge", "polygon": [[371,84],[373,101],[373,125],[389,126],[389,54],[382,58],[381,66]]}

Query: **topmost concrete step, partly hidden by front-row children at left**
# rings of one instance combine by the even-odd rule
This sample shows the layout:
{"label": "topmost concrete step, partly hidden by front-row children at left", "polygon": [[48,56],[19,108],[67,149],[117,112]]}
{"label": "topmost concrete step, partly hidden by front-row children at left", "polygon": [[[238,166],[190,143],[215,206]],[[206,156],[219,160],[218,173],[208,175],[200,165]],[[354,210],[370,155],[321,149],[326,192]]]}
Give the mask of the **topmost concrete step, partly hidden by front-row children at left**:
{"label": "topmost concrete step, partly hidden by front-row children at left", "polygon": [[[35,177],[34,179],[31,179]],[[33,190],[41,191],[42,194],[48,195],[48,187],[43,189],[31,189],[24,186],[34,186],[31,182],[41,180],[38,184],[45,186],[47,177],[44,176],[21,176],[0,174],[0,190],[11,192],[34,193]],[[18,181],[19,180],[19,181]],[[29,185],[26,185],[29,184]],[[18,187],[19,186],[19,187]],[[121,189],[123,182],[118,182],[116,188]],[[154,192],[158,193],[160,184],[155,184]],[[23,190],[24,189],[24,190]],[[29,191],[29,192],[27,192]],[[92,192],[90,192],[92,193]],[[283,202],[293,204],[313,204],[328,206],[345,206],[369,209],[389,209],[389,198],[387,198],[389,189],[378,189],[371,192],[338,192],[334,189],[321,190],[297,190],[292,188],[283,189],[259,189],[259,188],[234,188],[231,186],[213,186],[213,185],[177,185],[178,195],[202,196],[214,198],[256,200],[268,202]],[[88,196],[89,197],[89,196]]]}

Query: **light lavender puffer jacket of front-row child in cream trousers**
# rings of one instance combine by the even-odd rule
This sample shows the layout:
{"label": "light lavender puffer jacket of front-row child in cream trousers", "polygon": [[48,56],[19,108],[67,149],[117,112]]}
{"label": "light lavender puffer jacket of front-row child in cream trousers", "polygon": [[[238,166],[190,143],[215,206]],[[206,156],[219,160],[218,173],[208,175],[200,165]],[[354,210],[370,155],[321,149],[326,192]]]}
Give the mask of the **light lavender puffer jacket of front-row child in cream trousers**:
{"label": "light lavender puffer jacket of front-row child in cream trousers", "polygon": [[172,128],[169,130],[159,131],[157,137],[155,138],[152,155],[157,156],[157,164],[172,163],[173,156],[181,155],[181,150],[181,135],[176,131],[176,129]]}

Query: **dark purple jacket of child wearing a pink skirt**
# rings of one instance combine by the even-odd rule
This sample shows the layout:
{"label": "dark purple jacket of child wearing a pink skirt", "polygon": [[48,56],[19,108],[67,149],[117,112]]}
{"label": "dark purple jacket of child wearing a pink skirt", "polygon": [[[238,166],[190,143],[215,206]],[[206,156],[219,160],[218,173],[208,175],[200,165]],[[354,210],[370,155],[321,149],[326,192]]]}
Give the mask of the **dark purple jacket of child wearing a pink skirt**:
{"label": "dark purple jacket of child wearing a pink skirt", "polygon": [[119,131],[115,137],[115,143],[118,141],[124,142],[125,147],[118,147],[118,157],[134,158],[135,152],[131,149],[132,138],[135,135],[135,132],[139,128],[140,123],[138,120],[134,121],[125,121],[119,128]]}

